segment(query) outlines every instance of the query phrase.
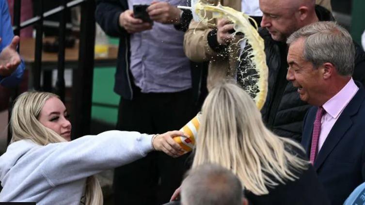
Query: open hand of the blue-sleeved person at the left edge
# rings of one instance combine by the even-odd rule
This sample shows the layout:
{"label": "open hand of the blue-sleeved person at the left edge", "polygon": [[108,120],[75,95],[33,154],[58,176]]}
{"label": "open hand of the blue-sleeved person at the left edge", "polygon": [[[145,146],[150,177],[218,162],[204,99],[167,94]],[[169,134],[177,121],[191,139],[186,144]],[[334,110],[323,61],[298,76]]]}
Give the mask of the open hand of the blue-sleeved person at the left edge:
{"label": "open hand of the blue-sleeved person at the left edge", "polygon": [[10,76],[21,62],[20,56],[16,52],[19,40],[19,36],[14,36],[10,45],[5,47],[0,53],[0,75],[3,77]]}

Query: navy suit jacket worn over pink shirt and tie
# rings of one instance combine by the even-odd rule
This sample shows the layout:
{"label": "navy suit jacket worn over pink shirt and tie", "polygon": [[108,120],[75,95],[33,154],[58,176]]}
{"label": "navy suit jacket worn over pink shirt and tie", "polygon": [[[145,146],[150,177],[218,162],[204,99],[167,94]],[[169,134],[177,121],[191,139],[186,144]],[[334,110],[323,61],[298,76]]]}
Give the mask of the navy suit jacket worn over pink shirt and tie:
{"label": "navy suit jacket worn over pink shirt and tie", "polygon": [[[365,89],[343,110],[323,143],[314,163],[319,181],[334,205],[342,205],[349,194],[365,181]],[[304,118],[302,145],[309,157],[317,107]]]}

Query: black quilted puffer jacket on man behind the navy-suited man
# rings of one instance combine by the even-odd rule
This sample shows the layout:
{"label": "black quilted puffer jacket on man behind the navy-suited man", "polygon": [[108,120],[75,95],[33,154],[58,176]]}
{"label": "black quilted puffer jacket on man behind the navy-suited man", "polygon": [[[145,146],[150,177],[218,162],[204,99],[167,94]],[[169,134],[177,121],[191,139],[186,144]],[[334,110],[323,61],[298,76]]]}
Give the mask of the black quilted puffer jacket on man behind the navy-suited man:
{"label": "black quilted puffer jacket on man behind the navy-suited man", "polygon": [[[316,13],[320,21],[334,20],[332,14],[321,6],[316,6]],[[300,142],[302,121],[310,106],[300,99],[297,88],[286,80],[286,44],[274,41],[266,29],[260,29],[259,33],[265,41],[269,67],[268,96],[261,110],[263,120],[275,134]],[[353,79],[365,85],[365,53],[358,44],[354,44],[356,56]]]}

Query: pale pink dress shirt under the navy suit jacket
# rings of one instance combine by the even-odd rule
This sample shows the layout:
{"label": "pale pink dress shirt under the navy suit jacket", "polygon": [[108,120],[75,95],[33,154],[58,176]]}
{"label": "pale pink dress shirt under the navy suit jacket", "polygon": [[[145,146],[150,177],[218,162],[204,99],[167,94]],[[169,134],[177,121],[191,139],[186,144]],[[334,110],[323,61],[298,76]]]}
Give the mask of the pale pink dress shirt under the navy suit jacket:
{"label": "pale pink dress shirt under the navy suit jacket", "polygon": [[340,92],[338,92],[325,104],[323,104],[322,107],[324,110],[326,110],[326,113],[322,116],[321,133],[319,135],[319,141],[318,141],[318,153],[324,141],[326,141],[327,136],[330,133],[334,123],[337,121],[342,111],[349,104],[349,102],[351,101],[353,96],[355,96],[358,90],[359,88],[351,78]]}

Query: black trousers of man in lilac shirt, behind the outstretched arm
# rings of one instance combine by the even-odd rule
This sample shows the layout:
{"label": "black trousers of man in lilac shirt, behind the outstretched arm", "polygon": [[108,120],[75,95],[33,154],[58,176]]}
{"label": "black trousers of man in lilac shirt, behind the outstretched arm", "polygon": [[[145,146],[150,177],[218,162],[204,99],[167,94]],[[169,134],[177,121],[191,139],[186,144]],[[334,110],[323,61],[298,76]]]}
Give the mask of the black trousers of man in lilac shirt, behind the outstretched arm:
{"label": "black trousers of man in lilac shirt, behind the outstretched arm", "polygon": [[[179,130],[193,113],[191,90],[178,93],[143,94],[135,88],[133,100],[121,99],[117,129],[162,134]],[[115,169],[115,205],[161,205],[167,203],[190,168],[189,154],[172,158],[151,152],[145,158]]]}

